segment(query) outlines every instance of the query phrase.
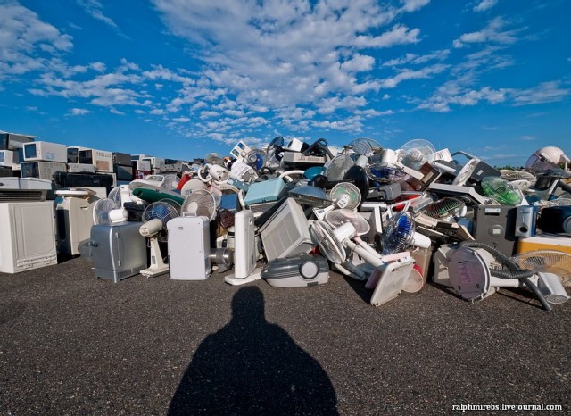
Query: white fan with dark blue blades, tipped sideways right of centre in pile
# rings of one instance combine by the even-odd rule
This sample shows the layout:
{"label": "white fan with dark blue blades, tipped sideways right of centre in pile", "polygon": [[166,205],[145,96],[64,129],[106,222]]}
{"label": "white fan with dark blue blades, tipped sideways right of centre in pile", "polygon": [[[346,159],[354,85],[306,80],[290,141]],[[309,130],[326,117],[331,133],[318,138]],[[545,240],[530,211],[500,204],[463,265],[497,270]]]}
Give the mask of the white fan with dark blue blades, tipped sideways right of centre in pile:
{"label": "white fan with dark blue blades, tipped sideways right of centre in pile", "polygon": [[415,231],[414,220],[410,212],[399,212],[389,221],[383,232],[383,254],[399,253],[413,245],[415,247],[428,248],[431,241]]}

